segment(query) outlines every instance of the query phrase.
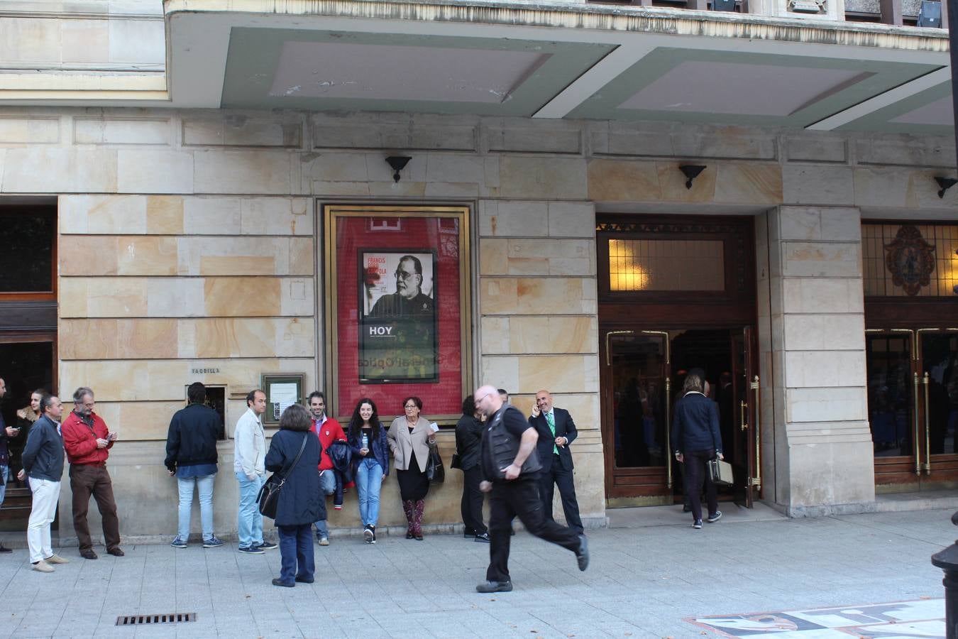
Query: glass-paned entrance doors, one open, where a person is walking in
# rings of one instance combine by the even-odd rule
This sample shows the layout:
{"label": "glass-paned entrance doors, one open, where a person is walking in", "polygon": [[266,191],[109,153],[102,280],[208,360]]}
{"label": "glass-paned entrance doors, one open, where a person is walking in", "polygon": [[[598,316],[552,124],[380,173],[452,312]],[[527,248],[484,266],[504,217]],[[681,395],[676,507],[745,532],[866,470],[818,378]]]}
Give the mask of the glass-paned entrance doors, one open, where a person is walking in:
{"label": "glass-paned entrance doors, one open, where a person is walking in", "polygon": [[735,485],[720,496],[750,508],[760,487],[751,329],[607,330],[602,335],[608,505],[681,500],[681,466],[671,454],[670,424],[686,372],[700,368],[709,397],[719,404],[722,444],[735,471]]}

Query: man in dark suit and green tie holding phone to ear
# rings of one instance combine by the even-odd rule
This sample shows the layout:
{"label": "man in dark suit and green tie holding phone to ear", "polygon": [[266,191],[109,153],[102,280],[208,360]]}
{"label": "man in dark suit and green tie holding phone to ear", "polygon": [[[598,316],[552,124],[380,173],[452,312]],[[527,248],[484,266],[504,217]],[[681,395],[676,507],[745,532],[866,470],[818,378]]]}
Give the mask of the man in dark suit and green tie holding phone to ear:
{"label": "man in dark suit and green tie holding phone to ear", "polygon": [[569,451],[579,431],[572,421],[569,411],[556,408],[552,404],[552,394],[541,390],[536,393],[536,405],[529,418],[538,433],[536,452],[542,470],[539,475],[539,496],[542,508],[549,519],[552,516],[552,498],[555,487],[559,486],[562,498],[562,511],[565,523],[582,535],[582,519],[579,516],[579,502],[576,501],[576,486],[573,478],[572,453]]}

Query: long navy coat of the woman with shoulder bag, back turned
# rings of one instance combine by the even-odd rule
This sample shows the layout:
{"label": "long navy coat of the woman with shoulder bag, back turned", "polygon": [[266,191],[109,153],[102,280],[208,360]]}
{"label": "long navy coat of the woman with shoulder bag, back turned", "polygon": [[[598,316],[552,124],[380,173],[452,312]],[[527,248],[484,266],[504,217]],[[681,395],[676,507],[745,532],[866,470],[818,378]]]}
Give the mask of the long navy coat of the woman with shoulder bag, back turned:
{"label": "long navy coat of the woman with shoulder bag, back turned", "polygon": [[283,472],[296,459],[303,438],[303,454],[285,476],[276,508],[277,526],[302,526],[326,519],[326,498],[319,490],[319,438],[310,431],[281,430],[273,435],[266,452],[266,469]]}

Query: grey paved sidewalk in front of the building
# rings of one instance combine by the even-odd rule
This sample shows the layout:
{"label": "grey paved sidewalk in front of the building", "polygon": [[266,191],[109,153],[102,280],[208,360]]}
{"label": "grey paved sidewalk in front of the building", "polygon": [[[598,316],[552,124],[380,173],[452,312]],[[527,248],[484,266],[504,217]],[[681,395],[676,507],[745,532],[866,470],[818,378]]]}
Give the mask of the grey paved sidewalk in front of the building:
{"label": "grey paved sidewalk in front of the building", "polygon": [[[95,561],[63,549],[71,563],[52,575],[16,550],[0,555],[0,637],[678,638],[719,636],[694,617],[928,599],[924,609],[944,618],[942,573],[929,557],[958,535],[951,511],[789,520],[723,506],[701,531],[672,507],[610,512],[612,527],[589,532],[584,573],[568,551],[519,533],[515,590],[496,595],[473,589],[489,546],[452,535],[376,545],[333,536],[316,547],[317,582],[289,589],[270,584],[278,551],[239,556],[235,544],[125,546],[125,558]],[[114,625],[171,612],[196,621]]]}

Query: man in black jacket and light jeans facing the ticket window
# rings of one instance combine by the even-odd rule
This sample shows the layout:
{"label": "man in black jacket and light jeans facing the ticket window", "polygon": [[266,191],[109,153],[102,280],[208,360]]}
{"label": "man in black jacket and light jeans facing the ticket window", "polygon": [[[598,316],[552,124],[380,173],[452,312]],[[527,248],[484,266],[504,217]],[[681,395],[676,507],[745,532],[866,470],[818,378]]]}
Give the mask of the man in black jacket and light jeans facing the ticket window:
{"label": "man in black jacket and light jeans facing the ticket window", "polygon": [[179,527],[173,548],[186,548],[190,537],[190,512],[194,488],[199,492],[199,520],[203,548],[223,545],[213,534],[213,485],[217,475],[217,433],[219,415],[203,402],[206,387],[198,381],[187,389],[190,403],[176,411],[167,434],[166,467],[176,476],[179,488]]}

